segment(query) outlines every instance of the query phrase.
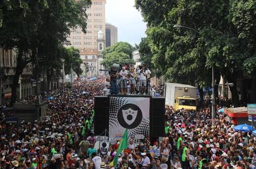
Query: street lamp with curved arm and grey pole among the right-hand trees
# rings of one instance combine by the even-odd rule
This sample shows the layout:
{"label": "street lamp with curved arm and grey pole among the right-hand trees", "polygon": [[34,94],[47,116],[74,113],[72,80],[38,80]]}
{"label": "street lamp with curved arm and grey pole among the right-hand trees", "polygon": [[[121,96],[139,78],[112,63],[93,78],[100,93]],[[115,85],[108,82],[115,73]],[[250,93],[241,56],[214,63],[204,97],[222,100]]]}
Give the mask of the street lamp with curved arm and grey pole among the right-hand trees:
{"label": "street lamp with curved arm and grey pole among the right-hand trees", "polygon": [[[193,29],[193,28],[189,28],[189,27],[184,27],[182,25],[174,25],[174,28],[185,28],[185,29],[189,29],[189,30],[193,30],[194,32],[198,33],[199,35],[201,35],[197,30]],[[214,87],[215,87],[215,79],[214,79],[214,66],[211,65],[211,88],[213,88],[213,98],[212,98],[212,103],[211,103],[211,122],[212,122],[212,126],[214,126],[214,118],[215,118],[215,95],[214,95]]]}

